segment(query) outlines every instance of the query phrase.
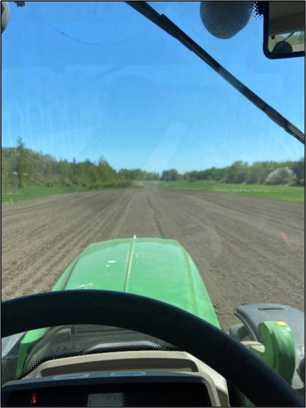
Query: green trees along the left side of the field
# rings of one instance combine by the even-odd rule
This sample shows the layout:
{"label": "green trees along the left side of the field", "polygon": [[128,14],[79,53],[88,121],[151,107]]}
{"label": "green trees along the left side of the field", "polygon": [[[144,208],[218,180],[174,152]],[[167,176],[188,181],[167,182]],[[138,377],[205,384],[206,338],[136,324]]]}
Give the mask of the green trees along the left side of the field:
{"label": "green trees along the left side of the field", "polygon": [[128,187],[133,180],[159,180],[159,173],[140,169],[119,171],[104,158],[91,160],[56,160],[51,155],[26,148],[21,138],[14,148],[1,148],[1,190],[27,185],[65,185],[84,188]]}

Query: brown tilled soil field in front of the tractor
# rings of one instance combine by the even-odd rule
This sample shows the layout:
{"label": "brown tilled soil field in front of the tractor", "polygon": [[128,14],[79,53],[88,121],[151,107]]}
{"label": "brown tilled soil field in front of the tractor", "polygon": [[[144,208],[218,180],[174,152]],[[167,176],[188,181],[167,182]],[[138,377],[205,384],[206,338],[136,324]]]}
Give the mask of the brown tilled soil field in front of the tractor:
{"label": "brown tilled soil field in front of the tractor", "polygon": [[304,225],[304,205],[154,184],[4,205],[2,298],[50,290],[90,243],[174,238],[194,258],[226,329],[241,304],[303,309]]}

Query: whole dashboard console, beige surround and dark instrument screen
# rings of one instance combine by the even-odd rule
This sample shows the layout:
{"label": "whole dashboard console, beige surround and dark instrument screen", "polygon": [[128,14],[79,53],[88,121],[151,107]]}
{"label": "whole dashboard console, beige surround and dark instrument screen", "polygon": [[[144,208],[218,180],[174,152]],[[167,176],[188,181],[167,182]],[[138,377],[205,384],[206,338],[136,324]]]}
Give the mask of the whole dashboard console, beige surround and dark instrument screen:
{"label": "whole dashboard console, beige surround and dark instrument screen", "polygon": [[2,407],[229,406],[226,380],[180,351],[109,352],[43,362],[1,387]]}

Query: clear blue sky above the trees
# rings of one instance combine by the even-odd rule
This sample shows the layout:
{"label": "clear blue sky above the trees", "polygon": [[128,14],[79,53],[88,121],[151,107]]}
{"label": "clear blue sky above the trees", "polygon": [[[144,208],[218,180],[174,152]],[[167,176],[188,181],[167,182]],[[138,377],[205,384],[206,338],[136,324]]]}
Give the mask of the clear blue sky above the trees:
{"label": "clear blue sky above the trees", "polygon": [[[304,131],[305,58],[263,55],[263,21],[233,39],[201,23],[199,2],[154,7]],[[235,160],[295,160],[304,146],[223,78],[122,2],[11,4],[2,34],[2,146],[116,169],[180,171]]]}

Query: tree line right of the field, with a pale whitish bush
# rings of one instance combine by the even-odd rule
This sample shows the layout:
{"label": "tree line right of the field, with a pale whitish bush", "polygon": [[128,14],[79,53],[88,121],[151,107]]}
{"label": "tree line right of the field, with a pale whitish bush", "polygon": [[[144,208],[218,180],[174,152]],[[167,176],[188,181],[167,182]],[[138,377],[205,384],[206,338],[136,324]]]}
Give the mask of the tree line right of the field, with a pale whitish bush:
{"label": "tree line right of the field, with a pale whitish bush", "polygon": [[296,161],[258,161],[248,164],[238,160],[224,168],[187,171],[184,174],[172,168],[162,172],[162,180],[197,180],[215,183],[288,184],[305,185],[305,158]]}

